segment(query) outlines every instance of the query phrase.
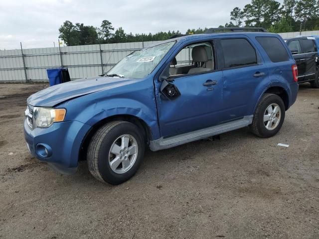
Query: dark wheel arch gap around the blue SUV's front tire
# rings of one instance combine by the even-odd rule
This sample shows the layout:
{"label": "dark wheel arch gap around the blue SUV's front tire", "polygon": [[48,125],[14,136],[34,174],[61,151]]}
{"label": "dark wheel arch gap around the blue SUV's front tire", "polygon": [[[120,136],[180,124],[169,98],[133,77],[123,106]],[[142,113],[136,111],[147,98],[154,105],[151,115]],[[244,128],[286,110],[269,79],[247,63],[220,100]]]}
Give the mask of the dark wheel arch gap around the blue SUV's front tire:
{"label": "dark wheel arch gap around the blue SUV's front tire", "polygon": [[95,132],[102,125],[104,125],[108,122],[111,122],[111,121],[115,121],[115,120],[131,122],[131,123],[135,124],[136,126],[138,126],[143,133],[145,143],[147,145],[149,144],[150,140],[153,138],[151,127],[143,119],[140,119],[140,118],[133,116],[133,115],[125,115],[125,114],[110,116],[110,117],[101,119],[98,122],[96,122],[94,125],[92,125],[90,130],[86,133],[86,135],[84,136],[82,143],[81,143],[79,158],[78,158],[79,161],[86,159],[87,147],[89,145],[91,138],[95,134]]}

